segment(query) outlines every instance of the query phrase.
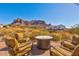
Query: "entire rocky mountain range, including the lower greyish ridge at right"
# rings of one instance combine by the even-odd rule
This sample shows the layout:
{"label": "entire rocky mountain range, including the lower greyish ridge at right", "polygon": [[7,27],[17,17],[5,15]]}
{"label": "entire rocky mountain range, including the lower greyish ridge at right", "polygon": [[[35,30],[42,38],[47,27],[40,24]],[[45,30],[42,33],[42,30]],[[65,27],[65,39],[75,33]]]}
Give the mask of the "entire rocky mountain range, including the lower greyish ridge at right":
{"label": "entire rocky mountain range, including the lower greyish ridge at right", "polygon": [[46,29],[52,29],[52,30],[62,30],[65,29],[66,27],[62,24],[60,25],[51,25],[51,24],[47,24],[45,21],[43,20],[32,20],[32,21],[27,21],[27,20],[23,20],[20,18],[15,19],[12,22],[12,25],[21,25],[21,26],[27,26],[27,25],[34,25],[36,27],[44,27]]}

